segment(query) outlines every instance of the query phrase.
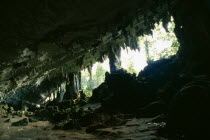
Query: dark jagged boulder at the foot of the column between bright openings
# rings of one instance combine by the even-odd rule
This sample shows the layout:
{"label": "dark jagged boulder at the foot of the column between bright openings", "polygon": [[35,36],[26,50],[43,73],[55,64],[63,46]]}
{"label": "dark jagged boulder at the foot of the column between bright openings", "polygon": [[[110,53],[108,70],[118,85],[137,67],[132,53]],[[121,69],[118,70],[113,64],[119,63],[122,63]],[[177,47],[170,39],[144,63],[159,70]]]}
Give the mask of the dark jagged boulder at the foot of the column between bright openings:
{"label": "dark jagged boulder at the foot of the column between bright openings", "polygon": [[120,69],[106,74],[105,82],[93,91],[91,101],[102,102],[105,111],[133,111],[148,102],[146,86],[134,74]]}

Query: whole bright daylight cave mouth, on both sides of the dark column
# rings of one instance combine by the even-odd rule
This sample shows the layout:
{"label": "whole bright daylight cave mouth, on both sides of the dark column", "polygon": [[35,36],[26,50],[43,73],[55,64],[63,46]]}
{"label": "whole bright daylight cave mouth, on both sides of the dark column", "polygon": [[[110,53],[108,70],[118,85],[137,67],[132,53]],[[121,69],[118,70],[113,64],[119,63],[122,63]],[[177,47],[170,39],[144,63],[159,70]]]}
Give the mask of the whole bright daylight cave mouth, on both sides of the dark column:
{"label": "whole bright daylight cave mouth, on both sides of the dark column", "polygon": [[[129,47],[121,50],[121,67],[129,73],[138,73],[149,63],[160,59],[167,59],[175,55],[179,49],[179,43],[174,34],[175,24],[168,24],[168,32],[163,28],[162,22],[155,24],[153,35],[139,37],[139,50],[131,50]],[[105,79],[105,73],[109,72],[109,60],[103,63],[95,63],[92,67],[92,77],[87,69],[82,71],[82,90],[92,95],[92,90],[98,87]]]}

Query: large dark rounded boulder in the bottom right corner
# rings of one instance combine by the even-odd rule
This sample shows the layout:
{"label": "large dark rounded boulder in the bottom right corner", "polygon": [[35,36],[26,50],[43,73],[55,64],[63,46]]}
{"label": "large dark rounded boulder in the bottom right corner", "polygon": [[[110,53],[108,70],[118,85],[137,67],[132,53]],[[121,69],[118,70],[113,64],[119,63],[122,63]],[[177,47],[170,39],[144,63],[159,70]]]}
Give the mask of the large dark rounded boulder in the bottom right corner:
{"label": "large dark rounded boulder in the bottom right corner", "polygon": [[171,102],[166,127],[171,133],[182,130],[186,137],[200,139],[210,134],[209,107],[210,81],[192,81]]}

